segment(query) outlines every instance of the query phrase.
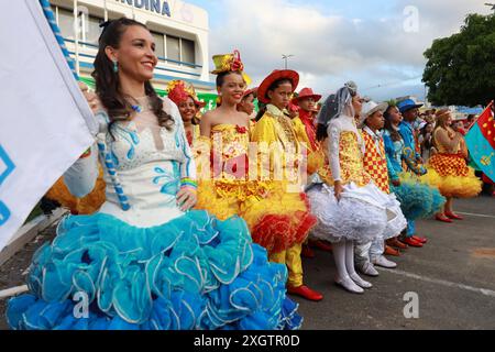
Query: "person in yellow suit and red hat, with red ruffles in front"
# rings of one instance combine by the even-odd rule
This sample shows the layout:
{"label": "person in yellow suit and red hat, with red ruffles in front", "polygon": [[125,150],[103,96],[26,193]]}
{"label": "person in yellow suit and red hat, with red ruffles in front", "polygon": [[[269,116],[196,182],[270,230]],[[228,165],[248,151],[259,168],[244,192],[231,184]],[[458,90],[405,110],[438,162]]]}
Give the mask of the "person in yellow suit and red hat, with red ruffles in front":
{"label": "person in yellow suit and red hat, with red ruffles in front", "polygon": [[[270,180],[270,196],[250,205],[244,217],[258,219],[252,235],[255,242],[268,246],[270,260],[288,267],[287,292],[309,300],[323,296],[304,285],[301,244],[316,224],[309,202],[301,193],[300,166],[307,153],[287,113],[287,106],[299,82],[294,70],[275,70],[257,89],[258,100],[266,110],[256,122],[252,141],[258,152],[258,179]],[[253,221],[254,222],[254,221]]]}

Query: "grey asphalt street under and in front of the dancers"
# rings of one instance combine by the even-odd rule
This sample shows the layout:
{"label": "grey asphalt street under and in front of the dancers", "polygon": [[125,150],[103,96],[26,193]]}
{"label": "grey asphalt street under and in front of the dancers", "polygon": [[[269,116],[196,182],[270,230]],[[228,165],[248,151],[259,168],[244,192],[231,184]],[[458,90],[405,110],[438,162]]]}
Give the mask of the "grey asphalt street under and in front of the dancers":
{"label": "grey asphalt street under and in front of the dancers", "polygon": [[[316,258],[305,258],[305,282],[324,299],[310,302],[292,296],[300,304],[302,329],[495,329],[495,198],[455,200],[454,207],[464,220],[418,221],[427,245],[389,257],[398,263],[397,270],[380,270],[376,278],[363,275],[374,285],[364,295],[333,284],[331,253],[316,250]],[[40,234],[0,267],[0,290],[24,283],[33,252],[53,234],[54,228]],[[404,300],[410,293],[417,295],[418,318],[404,315],[406,305],[415,302]],[[0,300],[0,330],[7,329],[4,308]]]}

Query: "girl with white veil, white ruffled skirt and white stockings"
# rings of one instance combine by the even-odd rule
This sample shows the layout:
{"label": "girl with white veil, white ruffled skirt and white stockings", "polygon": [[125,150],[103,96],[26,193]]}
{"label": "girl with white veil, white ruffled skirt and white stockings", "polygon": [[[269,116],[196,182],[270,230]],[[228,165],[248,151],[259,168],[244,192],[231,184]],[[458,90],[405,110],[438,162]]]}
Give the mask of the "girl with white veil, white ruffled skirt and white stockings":
{"label": "girl with white veil, white ruffled skirt and white stockings", "polygon": [[372,287],[355,272],[354,243],[383,238],[399,216],[397,202],[380,190],[364,169],[364,143],[354,119],[361,110],[354,82],[326,100],[318,116],[317,138],[327,164],[307,190],[318,218],[312,235],[332,242],[336,283],[354,294]]}

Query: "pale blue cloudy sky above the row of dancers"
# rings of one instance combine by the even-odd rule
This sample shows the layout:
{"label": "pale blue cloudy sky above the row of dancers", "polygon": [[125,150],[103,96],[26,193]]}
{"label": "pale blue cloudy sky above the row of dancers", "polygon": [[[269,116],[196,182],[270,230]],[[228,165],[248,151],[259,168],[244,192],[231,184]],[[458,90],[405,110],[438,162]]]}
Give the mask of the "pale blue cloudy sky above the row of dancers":
{"label": "pale blue cloudy sky above the row of dancers", "polygon": [[[459,31],[470,12],[488,13],[482,0],[186,0],[207,9],[210,56],[239,48],[254,85],[282,54],[301,84],[323,96],[353,79],[362,95],[386,100],[425,97],[422,53],[437,37]],[[414,6],[414,15],[405,13]],[[417,30],[406,31],[414,20]],[[210,63],[211,65],[211,63]]]}

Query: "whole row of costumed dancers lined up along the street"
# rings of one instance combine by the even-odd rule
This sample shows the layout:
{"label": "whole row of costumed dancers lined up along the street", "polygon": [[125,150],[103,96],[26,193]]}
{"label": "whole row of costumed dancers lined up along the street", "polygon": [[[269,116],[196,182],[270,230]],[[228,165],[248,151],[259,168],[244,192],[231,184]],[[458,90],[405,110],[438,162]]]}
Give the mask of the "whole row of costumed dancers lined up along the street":
{"label": "whole row of costumed dancers lined up along the street", "polygon": [[156,61],[144,25],[107,24],[96,94],[81,87],[106,128],[48,194],[75,216],[9,302],[13,329],[297,329],[287,294],[323,299],[304,279],[314,248],[363,294],[360,274],[426,245],[418,219],[462,220],[453,199],[481,191],[449,110],[420,117],[415,99],[375,102],[352,81],[321,102],[290,69],[249,87],[235,51],[213,57],[218,107],[201,114],[186,81],[158,98]]}

